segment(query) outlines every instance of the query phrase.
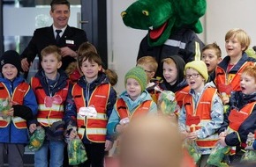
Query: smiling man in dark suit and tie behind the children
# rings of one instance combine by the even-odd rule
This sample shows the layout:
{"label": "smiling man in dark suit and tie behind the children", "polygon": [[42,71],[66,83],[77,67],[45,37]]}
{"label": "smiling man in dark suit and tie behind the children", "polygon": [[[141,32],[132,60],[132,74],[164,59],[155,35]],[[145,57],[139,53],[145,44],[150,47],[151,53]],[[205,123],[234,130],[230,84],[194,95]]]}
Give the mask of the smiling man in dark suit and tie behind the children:
{"label": "smiling man in dark suit and tie behind the children", "polygon": [[41,50],[49,45],[61,48],[61,69],[66,69],[69,63],[76,61],[79,45],[87,41],[85,31],[68,25],[71,11],[67,0],[52,0],[50,6],[49,14],[53,18],[53,25],[36,29],[32,40],[21,54],[21,67],[25,73],[28,72],[37,54],[41,61]]}

